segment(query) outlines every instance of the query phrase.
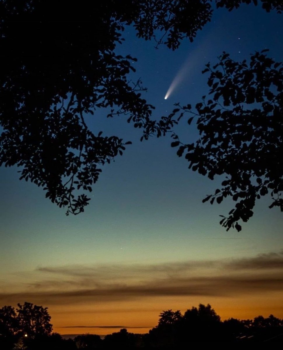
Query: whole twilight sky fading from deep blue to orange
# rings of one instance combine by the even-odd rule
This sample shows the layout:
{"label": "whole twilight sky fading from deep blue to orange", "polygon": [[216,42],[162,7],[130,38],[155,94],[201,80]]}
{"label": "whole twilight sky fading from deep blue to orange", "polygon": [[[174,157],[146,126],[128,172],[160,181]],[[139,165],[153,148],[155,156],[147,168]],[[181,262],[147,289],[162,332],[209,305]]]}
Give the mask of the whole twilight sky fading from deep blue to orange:
{"label": "whole twilight sky fading from deep blue to orange", "polygon": [[[168,115],[174,103],[194,105],[207,95],[207,62],[222,51],[235,60],[269,48],[283,57],[283,21],[276,12],[242,5],[215,11],[195,41],[154,48],[132,27],[117,52],[138,58],[144,98]],[[173,79],[182,78],[165,100]],[[283,318],[283,217],[262,198],[242,231],[225,231],[219,215],[234,203],[203,204],[222,177],[211,181],[188,169],[170,135],[140,142],[141,130],[107,110],[87,117],[95,133],[131,140],[123,156],[103,167],[90,205],[65,216],[41,188],[19,181],[17,168],[0,169],[0,307],[32,302],[48,307],[54,331],[107,334],[127,327],[147,332],[162,310],[210,303],[221,319],[274,314]],[[186,118],[176,127],[185,143],[198,134]],[[94,328],[64,328],[93,326]],[[107,326],[106,328],[99,328]],[[95,328],[98,327],[98,328]]]}

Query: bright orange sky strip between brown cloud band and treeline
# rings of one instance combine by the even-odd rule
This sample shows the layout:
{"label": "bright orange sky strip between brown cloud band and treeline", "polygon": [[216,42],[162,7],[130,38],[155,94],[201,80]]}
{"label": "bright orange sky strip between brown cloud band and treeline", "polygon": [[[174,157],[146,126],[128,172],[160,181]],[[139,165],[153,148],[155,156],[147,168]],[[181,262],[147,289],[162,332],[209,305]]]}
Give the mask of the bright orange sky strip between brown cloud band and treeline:
{"label": "bright orange sky strip between brown cloud band and treeline", "polygon": [[[143,334],[158,324],[159,314],[163,310],[181,310],[181,313],[184,313],[192,306],[197,307],[199,303],[209,303],[220,315],[222,321],[230,317],[253,319],[258,315],[268,317],[270,314],[283,318],[283,306],[280,302],[282,296],[282,293],[278,292],[241,298],[176,297],[172,299],[152,297],[129,303],[110,303],[108,307],[95,304],[88,307],[83,304],[74,306],[72,310],[71,306],[53,306],[49,308],[49,313],[51,323],[53,323],[53,331],[62,335],[85,333],[105,335],[118,332],[121,328],[127,328],[128,332]],[[65,326],[70,328],[64,328]],[[78,328],[75,326],[92,327]]]}

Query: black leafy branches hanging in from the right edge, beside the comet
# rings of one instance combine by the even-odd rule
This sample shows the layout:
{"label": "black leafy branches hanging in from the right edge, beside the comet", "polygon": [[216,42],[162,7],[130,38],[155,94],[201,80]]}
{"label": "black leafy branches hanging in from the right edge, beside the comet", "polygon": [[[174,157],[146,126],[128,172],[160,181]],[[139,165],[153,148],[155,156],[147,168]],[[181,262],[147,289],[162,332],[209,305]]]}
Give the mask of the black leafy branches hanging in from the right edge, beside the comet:
{"label": "black leafy branches hanging in from the right edge, beside the comet", "polygon": [[213,180],[226,175],[222,188],[203,202],[221,203],[230,196],[236,201],[229,216],[220,223],[238,231],[240,219],[247,222],[253,215],[255,201],[271,195],[269,208],[283,211],[283,67],[264,54],[251,55],[250,62],[235,62],[223,52],[213,67],[207,64],[203,72],[210,72],[208,86],[212,99],[178,107],[196,118],[200,138],[192,144],[182,144],[177,135],[172,147],[179,146],[178,156],[185,154],[189,168]]}

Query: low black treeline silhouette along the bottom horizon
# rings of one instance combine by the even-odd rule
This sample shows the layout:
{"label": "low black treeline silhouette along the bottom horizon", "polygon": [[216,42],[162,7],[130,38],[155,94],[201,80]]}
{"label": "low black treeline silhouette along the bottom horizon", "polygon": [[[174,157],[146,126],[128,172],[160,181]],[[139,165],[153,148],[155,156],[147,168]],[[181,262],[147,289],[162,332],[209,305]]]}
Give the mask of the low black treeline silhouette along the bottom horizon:
{"label": "low black treeline silhouette along the bottom horizon", "polygon": [[103,339],[95,334],[63,339],[52,332],[51,316],[47,307],[25,302],[18,308],[0,308],[1,350],[76,350],[76,349],[184,349],[192,342],[253,342],[282,341],[283,319],[272,314],[253,320],[220,316],[207,304],[187,309],[166,310],[159,315],[156,327],[146,334],[134,334],[122,328]]}

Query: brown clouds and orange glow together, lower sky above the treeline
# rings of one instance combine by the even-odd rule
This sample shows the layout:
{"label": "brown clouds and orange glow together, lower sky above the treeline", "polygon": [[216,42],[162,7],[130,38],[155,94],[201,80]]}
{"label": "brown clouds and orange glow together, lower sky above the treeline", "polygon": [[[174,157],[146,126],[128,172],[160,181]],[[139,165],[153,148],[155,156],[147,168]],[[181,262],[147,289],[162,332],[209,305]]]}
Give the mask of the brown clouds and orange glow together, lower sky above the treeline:
{"label": "brown clouds and orange glow together, lower sky above the treeline", "polygon": [[3,305],[48,307],[60,334],[104,335],[121,328],[145,333],[163,310],[184,313],[200,303],[210,304],[222,320],[283,318],[282,266],[279,251],[238,259],[45,267],[27,275],[33,282],[25,289],[15,281],[0,296]]}

